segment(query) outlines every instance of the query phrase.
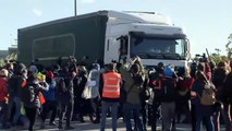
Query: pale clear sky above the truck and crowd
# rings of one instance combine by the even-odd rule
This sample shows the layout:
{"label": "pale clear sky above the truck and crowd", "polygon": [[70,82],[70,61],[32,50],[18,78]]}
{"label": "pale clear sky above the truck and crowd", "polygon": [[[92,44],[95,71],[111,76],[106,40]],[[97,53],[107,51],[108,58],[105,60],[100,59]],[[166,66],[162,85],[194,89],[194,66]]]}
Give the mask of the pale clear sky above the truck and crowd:
{"label": "pale clear sky above the truck and crowd", "polygon": [[[98,10],[161,12],[184,27],[193,53],[216,48],[225,53],[232,33],[232,0],[77,0],[77,13]],[[74,15],[74,0],[0,0],[0,50],[17,38],[17,29]]]}

